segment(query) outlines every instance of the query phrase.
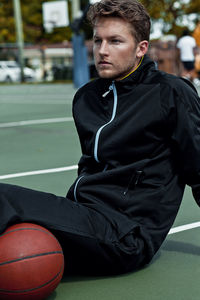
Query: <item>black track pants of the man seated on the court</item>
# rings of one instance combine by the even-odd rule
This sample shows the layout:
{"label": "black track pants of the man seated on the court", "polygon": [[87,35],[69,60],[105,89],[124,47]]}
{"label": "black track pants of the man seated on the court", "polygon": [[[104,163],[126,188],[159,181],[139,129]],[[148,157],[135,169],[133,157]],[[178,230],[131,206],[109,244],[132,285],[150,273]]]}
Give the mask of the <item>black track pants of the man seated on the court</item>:
{"label": "black track pants of the man seated on the court", "polygon": [[145,246],[136,230],[119,237],[100,212],[65,197],[0,184],[0,232],[32,222],[51,230],[61,243],[66,271],[119,274],[144,264]]}

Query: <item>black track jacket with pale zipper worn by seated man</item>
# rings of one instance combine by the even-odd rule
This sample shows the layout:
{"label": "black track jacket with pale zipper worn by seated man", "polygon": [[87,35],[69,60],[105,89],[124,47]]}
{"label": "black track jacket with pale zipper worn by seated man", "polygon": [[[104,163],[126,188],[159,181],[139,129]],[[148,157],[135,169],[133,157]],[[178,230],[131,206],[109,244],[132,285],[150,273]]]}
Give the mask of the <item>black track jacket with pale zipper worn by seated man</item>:
{"label": "black track jacket with pale zipper worn by seated man", "polygon": [[78,90],[73,116],[82,157],[67,197],[104,214],[119,237],[137,228],[147,261],[177,215],[185,184],[200,205],[200,99],[147,56],[121,81]]}

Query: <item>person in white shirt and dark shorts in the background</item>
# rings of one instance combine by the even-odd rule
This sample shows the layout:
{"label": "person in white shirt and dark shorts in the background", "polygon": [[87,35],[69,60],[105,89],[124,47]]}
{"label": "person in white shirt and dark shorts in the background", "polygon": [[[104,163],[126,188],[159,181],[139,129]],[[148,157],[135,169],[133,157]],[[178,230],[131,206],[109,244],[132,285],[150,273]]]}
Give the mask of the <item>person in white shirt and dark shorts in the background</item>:
{"label": "person in white shirt and dark shorts in the background", "polygon": [[196,85],[200,85],[195,70],[195,50],[197,44],[195,39],[190,35],[189,30],[183,31],[182,37],[177,42],[177,48],[180,53],[180,60],[183,65],[182,77],[187,78]]}

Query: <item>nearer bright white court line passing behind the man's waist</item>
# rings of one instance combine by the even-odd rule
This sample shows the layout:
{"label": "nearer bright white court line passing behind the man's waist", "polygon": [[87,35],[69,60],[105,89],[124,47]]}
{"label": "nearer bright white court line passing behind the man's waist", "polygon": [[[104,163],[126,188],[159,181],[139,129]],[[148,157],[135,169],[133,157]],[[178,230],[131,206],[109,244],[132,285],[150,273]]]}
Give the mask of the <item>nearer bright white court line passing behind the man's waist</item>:
{"label": "nearer bright white court line passing behind the man's waist", "polygon": [[[53,169],[46,169],[46,170],[36,170],[36,171],[29,171],[29,172],[21,172],[21,173],[14,173],[14,174],[7,174],[7,175],[0,175],[0,180],[3,179],[10,179],[10,178],[17,178],[17,177],[23,177],[23,176],[32,176],[32,175],[40,175],[40,174],[48,174],[48,173],[59,173],[59,172],[66,172],[66,171],[72,171],[78,169],[77,165],[72,165],[68,167],[61,167],[61,168],[53,168]],[[182,232],[190,229],[194,229],[200,227],[200,222],[195,222],[191,224],[186,224],[182,226],[177,226],[172,228],[169,231],[170,234],[174,234],[177,232]]]}

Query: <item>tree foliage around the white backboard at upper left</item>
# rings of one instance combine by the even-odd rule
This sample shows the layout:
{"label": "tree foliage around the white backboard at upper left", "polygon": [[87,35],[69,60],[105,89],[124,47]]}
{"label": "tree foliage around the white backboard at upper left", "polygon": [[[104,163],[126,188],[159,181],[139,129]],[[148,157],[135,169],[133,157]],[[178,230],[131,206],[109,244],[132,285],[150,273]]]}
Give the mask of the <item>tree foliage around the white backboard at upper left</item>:
{"label": "tree foliage around the white backboard at upper left", "polygon": [[[46,0],[48,1],[48,0]],[[44,0],[20,0],[25,43],[61,43],[71,38],[69,27],[56,28],[46,33],[43,27],[42,3]],[[70,2],[69,2],[70,8]],[[15,20],[13,0],[1,0],[0,3],[0,43],[15,43]]]}

